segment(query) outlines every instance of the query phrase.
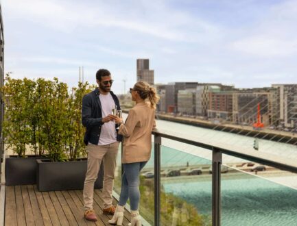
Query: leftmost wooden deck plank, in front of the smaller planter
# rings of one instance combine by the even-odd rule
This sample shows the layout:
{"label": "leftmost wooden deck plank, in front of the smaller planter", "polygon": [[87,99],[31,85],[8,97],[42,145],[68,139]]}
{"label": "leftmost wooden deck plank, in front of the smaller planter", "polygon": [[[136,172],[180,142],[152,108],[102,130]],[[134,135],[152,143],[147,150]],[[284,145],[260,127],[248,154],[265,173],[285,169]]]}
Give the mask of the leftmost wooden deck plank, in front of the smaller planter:
{"label": "leftmost wooden deck plank, in front of the smaller planter", "polygon": [[5,195],[5,225],[16,225],[16,197],[14,186],[6,186]]}

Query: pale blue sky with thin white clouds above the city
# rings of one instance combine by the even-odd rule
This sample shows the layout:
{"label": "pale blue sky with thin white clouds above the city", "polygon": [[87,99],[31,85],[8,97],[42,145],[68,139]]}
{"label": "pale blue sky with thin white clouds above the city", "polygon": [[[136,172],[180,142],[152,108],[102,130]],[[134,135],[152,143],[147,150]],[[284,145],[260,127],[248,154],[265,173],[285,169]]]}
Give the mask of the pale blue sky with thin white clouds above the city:
{"label": "pale blue sky with thin white clouds above the city", "polygon": [[[76,86],[107,68],[112,90],[136,82],[149,58],[155,83],[237,88],[297,84],[297,0],[1,0],[5,73]],[[126,90],[124,90],[126,80]]]}

